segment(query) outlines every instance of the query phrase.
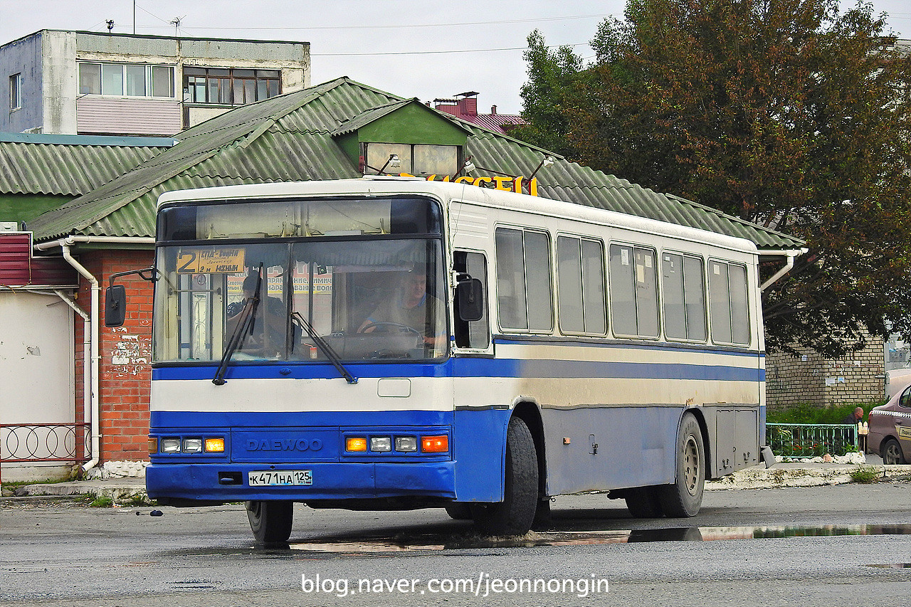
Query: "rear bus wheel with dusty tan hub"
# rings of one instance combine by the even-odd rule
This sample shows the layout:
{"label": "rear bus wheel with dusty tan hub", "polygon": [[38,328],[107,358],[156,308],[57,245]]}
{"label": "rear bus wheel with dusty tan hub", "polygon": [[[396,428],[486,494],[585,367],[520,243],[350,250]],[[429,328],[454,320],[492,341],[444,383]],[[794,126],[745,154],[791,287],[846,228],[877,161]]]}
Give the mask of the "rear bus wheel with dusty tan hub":
{"label": "rear bus wheel with dusty tan hub", "polygon": [[696,516],[705,489],[705,447],[699,422],[691,413],[683,415],[677,435],[676,478],[658,488],[661,509],[670,518]]}

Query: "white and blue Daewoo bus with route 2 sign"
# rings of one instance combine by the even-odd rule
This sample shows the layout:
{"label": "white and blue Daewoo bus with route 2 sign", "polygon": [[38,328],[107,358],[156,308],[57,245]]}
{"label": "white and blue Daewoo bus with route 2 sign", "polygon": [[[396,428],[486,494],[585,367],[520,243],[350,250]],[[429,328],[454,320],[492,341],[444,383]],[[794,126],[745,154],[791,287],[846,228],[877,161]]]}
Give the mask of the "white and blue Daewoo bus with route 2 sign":
{"label": "white and blue Daewoo bus with route 2 sign", "polygon": [[752,242],[365,177],[169,192],[156,246],[148,495],[246,501],[261,542],[294,502],[688,517],[761,459]]}

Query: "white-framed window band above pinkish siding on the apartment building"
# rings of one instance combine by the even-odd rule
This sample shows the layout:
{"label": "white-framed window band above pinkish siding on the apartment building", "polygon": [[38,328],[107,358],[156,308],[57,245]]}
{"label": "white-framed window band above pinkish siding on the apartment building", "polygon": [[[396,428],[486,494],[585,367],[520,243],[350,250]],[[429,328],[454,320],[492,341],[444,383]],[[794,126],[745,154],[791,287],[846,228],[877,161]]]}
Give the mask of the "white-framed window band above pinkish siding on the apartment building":
{"label": "white-framed window band above pinkish siding on the apartment building", "polygon": [[174,67],[80,62],[79,95],[174,98]]}

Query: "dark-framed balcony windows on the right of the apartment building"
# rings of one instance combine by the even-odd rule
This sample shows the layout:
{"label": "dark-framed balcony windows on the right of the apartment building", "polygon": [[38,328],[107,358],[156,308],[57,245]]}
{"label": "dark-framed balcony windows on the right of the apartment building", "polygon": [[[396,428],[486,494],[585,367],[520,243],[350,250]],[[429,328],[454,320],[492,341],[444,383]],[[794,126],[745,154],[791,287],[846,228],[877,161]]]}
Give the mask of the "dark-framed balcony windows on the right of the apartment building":
{"label": "dark-framed balcony windows on the right of the apartment building", "polygon": [[277,69],[183,68],[183,100],[186,103],[242,106],[279,93],[281,72]]}

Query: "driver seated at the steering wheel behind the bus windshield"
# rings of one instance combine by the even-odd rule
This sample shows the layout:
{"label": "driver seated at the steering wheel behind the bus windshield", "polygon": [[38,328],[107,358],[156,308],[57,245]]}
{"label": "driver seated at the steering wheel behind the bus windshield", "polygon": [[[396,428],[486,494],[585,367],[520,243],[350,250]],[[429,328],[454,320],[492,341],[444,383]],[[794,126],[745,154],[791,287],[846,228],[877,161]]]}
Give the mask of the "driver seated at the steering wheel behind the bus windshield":
{"label": "driver seated at the steering wheel behind the bus windshield", "polygon": [[425,266],[415,263],[402,273],[401,282],[392,297],[386,298],[367,316],[358,332],[413,330],[421,334],[426,345],[443,348],[446,342],[445,331],[442,330],[444,318],[443,302],[427,293]]}

